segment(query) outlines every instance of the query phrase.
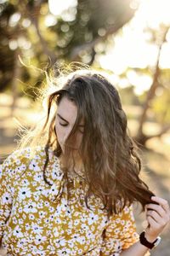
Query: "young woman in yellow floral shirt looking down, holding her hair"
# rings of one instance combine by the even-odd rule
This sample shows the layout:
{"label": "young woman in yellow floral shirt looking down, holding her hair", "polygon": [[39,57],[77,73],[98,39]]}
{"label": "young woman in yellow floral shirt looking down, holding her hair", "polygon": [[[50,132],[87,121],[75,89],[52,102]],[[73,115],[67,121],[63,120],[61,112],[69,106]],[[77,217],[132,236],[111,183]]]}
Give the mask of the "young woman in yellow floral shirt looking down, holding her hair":
{"label": "young woman in yellow floral shirt looking down, holding her hair", "polygon": [[[146,255],[170,209],[139,178],[118,92],[92,71],[71,73],[61,85],[48,96],[42,130],[29,131],[29,146],[1,166],[2,246],[7,255]],[[148,222],[140,236],[134,201]]]}

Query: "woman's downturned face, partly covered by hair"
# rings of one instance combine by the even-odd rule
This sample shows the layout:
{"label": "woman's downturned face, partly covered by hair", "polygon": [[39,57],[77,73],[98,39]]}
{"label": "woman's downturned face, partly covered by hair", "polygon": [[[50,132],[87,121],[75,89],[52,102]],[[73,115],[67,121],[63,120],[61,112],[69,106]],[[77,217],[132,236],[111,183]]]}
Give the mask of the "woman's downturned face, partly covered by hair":
{"label": "woman's downturned face, partly covered by hair", "polygon": [[[55,117],[55,131],[59,145],[63,152],[65,152],[65,141],[69,136],[77,119],[77,105],[71,102],[66,96],[64,96],[59,102],[57,113]],[[76,132],[76,139],[70,146],[71,148],[78,149],[82,142],[83,124],[81,122],[78,125]]]}

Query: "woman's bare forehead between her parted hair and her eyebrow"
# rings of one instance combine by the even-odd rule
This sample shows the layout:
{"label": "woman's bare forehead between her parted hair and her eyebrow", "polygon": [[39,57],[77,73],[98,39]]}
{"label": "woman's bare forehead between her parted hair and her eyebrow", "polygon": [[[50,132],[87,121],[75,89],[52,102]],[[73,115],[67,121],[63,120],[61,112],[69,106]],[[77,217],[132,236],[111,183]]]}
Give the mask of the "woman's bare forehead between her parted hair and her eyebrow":
{"label": "woman's bare forehead between her parted hair and her eyebrow", "polygon": [[69,123],[74,124],[77,119],[77,105],[64,96],[59,102],[57,113]]}

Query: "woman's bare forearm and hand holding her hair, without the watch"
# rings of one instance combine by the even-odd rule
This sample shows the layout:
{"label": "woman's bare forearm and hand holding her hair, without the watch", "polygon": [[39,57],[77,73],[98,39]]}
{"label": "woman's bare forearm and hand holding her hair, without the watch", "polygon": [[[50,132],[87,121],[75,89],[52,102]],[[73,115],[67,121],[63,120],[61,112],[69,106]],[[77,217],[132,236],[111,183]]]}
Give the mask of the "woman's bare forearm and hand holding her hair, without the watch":
{"label": "woman's bare forearm and hand holding her hair, without the watch", "polygon": [[[148,221],[148,227],[145,229],[145,238],[149,242],[156,241],[156,237],[161,234],[161,231],[165,228],[170,220],[170,208],[166,200],[153,196],[152,201],[156,201],[159,205],[148,204],[146,208],[146,219]],[[124,250],[122,256],[144,256],[149,248],[145,247],[140,241],[135,242],[131,247]]]}

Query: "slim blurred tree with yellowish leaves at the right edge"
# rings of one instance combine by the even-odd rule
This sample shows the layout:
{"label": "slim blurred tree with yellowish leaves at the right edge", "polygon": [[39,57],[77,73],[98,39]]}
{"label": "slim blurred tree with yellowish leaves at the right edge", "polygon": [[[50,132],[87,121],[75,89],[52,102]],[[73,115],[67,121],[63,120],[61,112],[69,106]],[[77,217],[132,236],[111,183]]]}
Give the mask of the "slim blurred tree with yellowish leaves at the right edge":
{"label": "slim blurred tree with yellowish leaves at the right edge", "polygon": [[[147,91],[147,94],[143,102],[143,106],[142,106],[143,110],[139,118],[139,130],[136,136],[137,142],[143,146],[150,138],[161,137],[164,133],[166,133],[170,129],[170,107],[169,107],[170,106],[169,105],[170,89],[169,89],[169,84],[168,86],[166,86],[165,81],[163,82],[163,80],[160,79],[162,76],[162,71],[159,66],[161,49],[163,44],[166,42],[167,32],[169,32],[169,27],[161,25],[161,30],[159,32],[156,32],[153,30],[150,30],[150,32],[152,33],[152,36],[153,36],[152,37],[153,42],[158,46],[158,55],[157,55],[156,67],[152,74],[153,76],[152,84],[150,86],[150,90]],[[156,98],[156,90],[158,91],[159,89],[161,89],[162,91],[166,90],[166,92],[162,93],[163,102],[159,99],[159,103],[158,103],[158,101],[156,101],[155,98]],[[163,106],[163,108],[161,106]],[[161,129],[159,132],[156,132],[155,134],[147,135],[147,134],[144,134],[144,123],[147,120],[147,113],[150,110],[150,108],[153,108],[153,110],[155,110],[156,113],[159,112],[159,117],[161,113],[161,122],[159,122],[160,120],[157,119],[157,121],[161,123]]]}

